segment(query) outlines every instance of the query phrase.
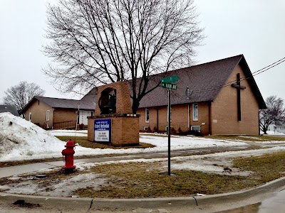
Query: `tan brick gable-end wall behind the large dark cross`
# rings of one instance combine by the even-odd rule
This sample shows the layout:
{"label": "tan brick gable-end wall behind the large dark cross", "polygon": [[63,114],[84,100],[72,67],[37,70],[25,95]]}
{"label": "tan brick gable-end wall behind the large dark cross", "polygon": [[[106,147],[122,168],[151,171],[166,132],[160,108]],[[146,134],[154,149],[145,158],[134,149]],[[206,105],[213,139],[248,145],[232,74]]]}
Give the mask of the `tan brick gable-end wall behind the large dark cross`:
{"label": "tan brick gable-end wall behind the large dark cross", "polygon": [[[237,73],[241,79],[245,77],[242,68],[238,65],[228,82],[237,80]],[[247,134],[259,135],[259,105],[254,97],[247,80],[241,82],[241,111],[242,121],[237,121],[237,89],[223,87],[217,99],[212,103],[212,134]]]}

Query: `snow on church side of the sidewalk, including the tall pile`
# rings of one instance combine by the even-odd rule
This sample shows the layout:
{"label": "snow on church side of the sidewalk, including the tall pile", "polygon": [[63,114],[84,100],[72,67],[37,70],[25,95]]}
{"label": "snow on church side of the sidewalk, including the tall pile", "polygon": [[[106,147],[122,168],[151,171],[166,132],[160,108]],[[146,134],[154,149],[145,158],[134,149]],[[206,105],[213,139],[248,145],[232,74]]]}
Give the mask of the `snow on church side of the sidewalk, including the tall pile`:
{"label": "snow on church side of the sidewalk, including the tall pile", "polygon": [[[9,112],[0,113],[0,161],[29,160],[37,158],[58,158],[66,143],[54,135],[78,136],[86,135],[86,131],[46,131],[25,119]],[[123,153],[148,153],[167,151],[167,137],[142,134],[140,142],[151,143],[155,148],[100,149],[76,146],[76,155],[103,155]],[[171,149],[204,148],[214,146],[247,146],[247,143],[195,138],[189,136],[173,136]]]}

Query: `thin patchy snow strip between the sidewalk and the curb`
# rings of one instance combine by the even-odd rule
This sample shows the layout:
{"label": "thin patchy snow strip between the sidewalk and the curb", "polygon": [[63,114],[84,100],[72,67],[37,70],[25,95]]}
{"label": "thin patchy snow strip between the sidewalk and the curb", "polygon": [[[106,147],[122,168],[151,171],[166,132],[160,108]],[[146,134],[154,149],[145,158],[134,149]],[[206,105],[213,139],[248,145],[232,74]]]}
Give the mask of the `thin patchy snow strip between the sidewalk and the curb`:
{"label": "thin patchy snow strip between the sidewalk and the curb", "polygon": [[[251,155],[264,155],[285,151],[285,147],[274,147],[252,151],[229,151],[224,153],[212,153],[207,155],[192,155],[184,157],[171,158],[171,170],[197,170],[204,173],[215,173],[220,175],[250,175],[251,171],[240,171],[237,168],[232,168],[232,158],[247,157]],[[78,188],[93,187],[94,190],[100,190],[103,185],[110,184],[110,180],[104,175],[90,171],[97,165],[105,165],[111,163],[129,163],[129,162],[160,162],[162,172],[167,172],[167,158],[153,159],[135,159],[135,160],[116,160],[101,163],[76,163],[78,175],[73,177],[67,176],[66,179],[52,180],[48,182],[35,181],[35,173],[26,174],[26,177],[13,176],[9,180],[19,180],[19,182],[10,183],[8,185],[0,185],[0,190],[6,193],[26,194],[26,195],[42,195],[42,196],[58,196],[58,197],[73,197],[76,196],[75,191]],[[150,165],[150,170],[152,169]],[[60,170],[61,168],[48,169]],[[157,169],[157,168],[156,168]],[[42,173],[39,170],[38,173]],[[68,185],[68,187],[66,187]]]}

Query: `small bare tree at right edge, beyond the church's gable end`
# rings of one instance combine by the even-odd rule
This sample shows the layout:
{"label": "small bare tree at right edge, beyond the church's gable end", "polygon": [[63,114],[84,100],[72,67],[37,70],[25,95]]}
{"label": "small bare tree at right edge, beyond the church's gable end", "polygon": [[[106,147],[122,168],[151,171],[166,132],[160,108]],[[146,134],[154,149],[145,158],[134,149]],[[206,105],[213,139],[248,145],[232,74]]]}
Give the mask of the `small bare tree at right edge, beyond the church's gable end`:
{"label": "small bare tree at right edge, beyond the church's gable end", "polygon": [[276,96],[266,98],[267,109],[259,112],[259,129],[266,134],[270,124],[281,124],[285,120],[284,99]]}

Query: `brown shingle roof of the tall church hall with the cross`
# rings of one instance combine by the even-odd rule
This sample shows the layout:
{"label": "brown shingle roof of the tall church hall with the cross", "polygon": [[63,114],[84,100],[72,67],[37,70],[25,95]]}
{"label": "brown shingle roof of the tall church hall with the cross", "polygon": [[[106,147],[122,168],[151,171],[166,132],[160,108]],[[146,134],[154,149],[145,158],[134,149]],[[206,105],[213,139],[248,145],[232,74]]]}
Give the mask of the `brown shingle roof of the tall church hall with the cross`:
{"label": "brown shingle roof of the tall church hall with the cross", "polygon": [[[172,90],[171,104],[212,102],[227,82],[234,68],[239,64],[242,66],[245,75],[250,77],[248,81],[257,97],[259,108],[264,109],[266,104],[243,55],[154,75],[152,82],[149,84],[149,88],[153,87],[155,83],[159,82],[163,77],[178,75],[179,80],[174,82],[174,84],[177,84],[177,90]],[[190,90],[193,91],[190,99],[187,99],[185,96],[186,87],[190,87]],[[157,87],[142,98],[139,108],[165,106],[167,102],[167,89]]]}

